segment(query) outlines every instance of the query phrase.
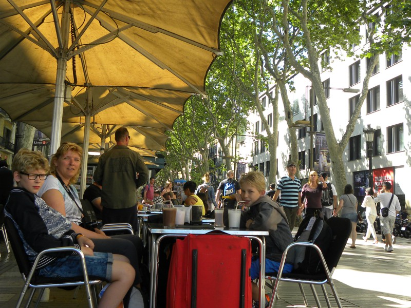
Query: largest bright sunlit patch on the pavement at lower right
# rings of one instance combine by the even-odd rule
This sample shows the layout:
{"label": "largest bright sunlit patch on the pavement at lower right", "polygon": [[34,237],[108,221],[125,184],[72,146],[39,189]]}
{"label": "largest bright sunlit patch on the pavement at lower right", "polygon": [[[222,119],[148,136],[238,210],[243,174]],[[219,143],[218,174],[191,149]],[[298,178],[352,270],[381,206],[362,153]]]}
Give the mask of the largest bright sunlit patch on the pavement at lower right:
{"label": "largest bright sunlit patch on the pavement at lower right", "polygon": [[[387,267],[389,271],[389,267]],[[411,275],[393,275],[384,273],[372,273],[356,271],[354,269],[336,268],[332,279],[338,280],[354,288],[361,288],[363,290],[376,291],[382,293],[390,293],[393,295],[409,296],[409,282],[411,281]],[[381,297],[383,298],[383,297]],[[398,301],[397,299],[395,299]],[[393,307],[410,307],[395,305]]]}

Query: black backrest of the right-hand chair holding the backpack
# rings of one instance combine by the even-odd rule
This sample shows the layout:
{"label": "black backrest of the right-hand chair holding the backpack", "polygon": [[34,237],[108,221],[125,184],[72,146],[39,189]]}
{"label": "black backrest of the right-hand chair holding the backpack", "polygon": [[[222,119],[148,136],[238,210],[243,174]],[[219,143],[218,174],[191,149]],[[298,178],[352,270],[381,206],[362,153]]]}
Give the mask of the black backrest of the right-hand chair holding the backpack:
{"label": "black backrest of the right-hand chair holding the backpack", "polygon": [[332,240],[324,259],[327,262],[329,271],[331,271],[340,261],[345,244],[351,234],[352,224],[348,218],[342,217],[331,217],[327,223],[332,229]]}

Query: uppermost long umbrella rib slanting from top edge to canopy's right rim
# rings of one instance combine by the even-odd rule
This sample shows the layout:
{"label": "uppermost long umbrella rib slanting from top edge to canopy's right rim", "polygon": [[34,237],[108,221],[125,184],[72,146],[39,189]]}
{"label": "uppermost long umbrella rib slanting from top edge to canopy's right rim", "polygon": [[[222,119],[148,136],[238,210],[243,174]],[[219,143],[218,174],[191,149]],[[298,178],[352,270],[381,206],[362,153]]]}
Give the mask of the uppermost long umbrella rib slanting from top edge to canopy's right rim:
{"label": "uppermost long umbrella rib slanting from top edge to canopy's right rim", "polygon": [[[96,8],[96,7],[97,7],[96,5],[91,4],[91,3],[87,2],[87,1],[84,1],[83,3],[84,3],[85,5],[87,5],[87,6],[92,7],[92,8]],[[188,43],[188,44],[190,44],[190,45],[193,45],[193,46],[199,47],[199,48],[201,48],[201,49],[204,49],[204,50],[210,51],[210,52],[212,52],[212,53],[215,53],[216,55],[222,55],[222,54],[223,54],[220,50],[218,50],[218,49],[216,49],[216,48],[203,45],[203,44],[201,44],[201,43],[198,43],[198,42],[196,42],[196,41],[191,40],[190,38],[187,38],[187,37],[178,35],[178,34],[176,34],[176,33],[173,33],[173,32],[170,32],[170,31],[167,31],[167,30],[164,30],[164,29],[161,29],[161,28],[156,27],[156,26],[152,26],[152,25],[146,24],[146,23],[144,23],[144,22],[135,20],[134,18],[125,16],[125,15],[120,14],[120,13],[117,13],[117,12],[115,12],[115,11],[111,11],[111,10],[108,10],[108,9],[103,9],[102,12],[105,12],[105,13],[110,14],[111,17],[113,17],[113,18],[115,18],[115,19],[117,19],[117,20],[119,20],[119,21],[121,21],[121,22],[130,24],[130,25],[133,25],[134,27],[137,27],[137,28],[146,30],[146,31],[148,31],[148,32],[152,32],[152,33],[157,33],[157,32],[163,33],[163,34],[165,34],[165,35],[168,35],[168,36],[177,38],[177,40],[179,40],[179,41],[182,41],[182,42]]]}

